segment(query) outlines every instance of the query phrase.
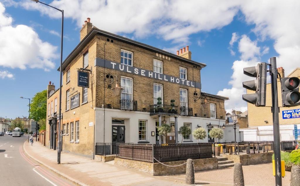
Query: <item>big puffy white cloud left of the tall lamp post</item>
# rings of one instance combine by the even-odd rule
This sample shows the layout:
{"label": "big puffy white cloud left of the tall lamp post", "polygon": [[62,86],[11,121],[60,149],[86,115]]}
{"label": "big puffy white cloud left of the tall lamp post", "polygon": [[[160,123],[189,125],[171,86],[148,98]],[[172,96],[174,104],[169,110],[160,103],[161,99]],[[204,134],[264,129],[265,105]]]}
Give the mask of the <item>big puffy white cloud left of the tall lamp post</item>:
{"label": "big puffy white cloud left of the tall lamp post", "polygon": [[56,47],[43,42],[29,26],[12,25],[0,2],[0,66],[8,68],[40,68],[48,71],[55,64]]}

